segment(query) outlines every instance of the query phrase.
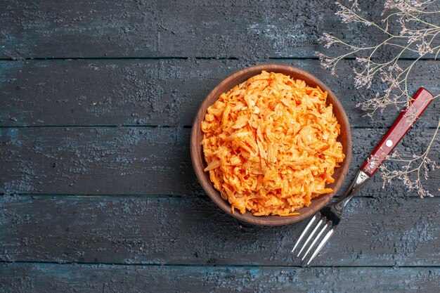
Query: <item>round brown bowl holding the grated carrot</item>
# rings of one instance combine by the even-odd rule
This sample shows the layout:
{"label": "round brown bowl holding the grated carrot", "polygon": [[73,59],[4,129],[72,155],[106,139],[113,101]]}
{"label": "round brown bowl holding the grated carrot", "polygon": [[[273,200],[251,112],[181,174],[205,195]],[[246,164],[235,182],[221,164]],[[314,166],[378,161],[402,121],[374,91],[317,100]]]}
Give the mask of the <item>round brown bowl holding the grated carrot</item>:
{"label": "round brown bowl holding the grated carrot", "polygon": [[[323,91],[327,91],[327,103],[333,105],[333,112],[335,113],[335,116],[337,117],[337,120],[341,125],[341,135],[339,136],[338,141],[342,143],[342,146],[344,148],[345,159],[344,162],[342,162],[341,167],[335,169],[335,174],[333,174],[335,182],[327,185],[328,188],[332,188],[334,191],[332,193],[314,198],[311,201],[309,207],[303,207],[302,209],[298,210],[298,212],[300,213],[298,216],[253,216],[250,211],[246,211],[245,214],[240,214],[240,212],[237,210],[235,210],[235,213],[233,214],[231,212],[231,205],[229,204],[229,202],[221,198],[220,193],[214,188],[214,185],[212,185],[211,181],[209,180],[209,173],[203,171],[207,164],[203,155],[202,146],[200,145],[200,141],[202,141],[203,138],[200,124],[205,118],[207,108],[209,108],[209,106],[212,105],[219,98],[221,93],[229,91],[233,88],[233,86],[245,82],[247,79],[253,77],[254,75],[260,74],[261,70],[266,70],[267,72],[280,72],[286,75],[290,75],[290,77],[292,78],[304,80],[309,86],[319,86],[321,89],[323,89]],[[191,159],[193,160],[195,174],[202,184],[202,188],[221,209],[226,211],[226,213],[231,214],[231,216],[235,216],[235,218],[238,218],[247,223],[276,226],[285,225],[288,223],[295,223],[297,221],[306,219],[307,217],[311,216],[312,214],[316,213],[316,211],[321,209],[337,193],[337,190],[339,190],[339,188],[341,187],[342,182],[344,181],[344,178],[347,175],[347,171],[349,169],[351,159],[351,131],[349,119],[345,114],[344,108],[342,108],[342,105],[336,98],[335,93],[333,93],[328,88],[328,86],[321,82],[321,80],[313,77],[313,75],[311,75],[309,72],[305,72],[304,70],[300,70],[292,66],[264,64],[247,67],[243,70],[239,70],[238,72],[231,74],[209,93],[209,95],[203,101],[202,105],[200,105],[198,113],[195,116],[193,129],[191,130],[190,148]]]}

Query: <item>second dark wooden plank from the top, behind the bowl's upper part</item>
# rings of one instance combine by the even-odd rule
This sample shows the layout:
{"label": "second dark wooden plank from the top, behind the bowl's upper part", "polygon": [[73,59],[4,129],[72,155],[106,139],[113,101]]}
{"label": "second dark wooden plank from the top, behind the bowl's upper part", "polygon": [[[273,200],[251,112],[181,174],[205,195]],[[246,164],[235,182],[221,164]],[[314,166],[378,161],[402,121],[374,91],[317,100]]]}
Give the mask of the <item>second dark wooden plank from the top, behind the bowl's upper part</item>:
{"label": "second dark wooden plank from the top, behind the bowl's upper part", "polygon": [[[351,126],[390,126],[398,112],[375,120],[356,104],[382,91],[355,89],[352,61],[340,63],[339,77],[322,70],[318,60],[276,60],[311,72],[335,91]],[[405,61],[408,65],[411,61]],[[420,61],[408,86],[440,93],[439,62]],[[0,62],[0,126],[189,126],[207,93],[224,77],[248,63],[238,60],[34,60]],[[346,78],[347,77],[347,78]],[[428,77],[428,78],[427,78]],[[436,126],[439,102],[422,121]]]}

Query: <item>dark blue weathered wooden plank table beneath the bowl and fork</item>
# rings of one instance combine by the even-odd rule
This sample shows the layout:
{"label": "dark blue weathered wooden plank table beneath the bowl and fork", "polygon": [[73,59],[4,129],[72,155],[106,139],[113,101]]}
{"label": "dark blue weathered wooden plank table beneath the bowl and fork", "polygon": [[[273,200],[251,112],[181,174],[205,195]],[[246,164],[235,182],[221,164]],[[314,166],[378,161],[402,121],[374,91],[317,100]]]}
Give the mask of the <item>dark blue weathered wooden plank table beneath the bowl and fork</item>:
{"label": "dark blue weathered wooden plank table beneath the bowl and fork", "polygon": [[[366,13],[380,15],[368,2]],[[308,70],[339,96],[353,178],[399,113],[362,116],[356,103],[380,89],[354,88],[354,60],[339,77],[320,68],[324,31],[379,38],[334,11],[318,0],[1,0],[0,292],[439,292],[440,197],[420,199],[399,182],[382,189],[375,177],[303,268],[290,250],[304,222],[242,223],[193,173],[200,102],[226,75],[271,62]],[[420,60],[411,89],[439,93],[439,66]],[[424,150],[438,109],[401,153]],[[432,148],[439,159],[438,139]]]}

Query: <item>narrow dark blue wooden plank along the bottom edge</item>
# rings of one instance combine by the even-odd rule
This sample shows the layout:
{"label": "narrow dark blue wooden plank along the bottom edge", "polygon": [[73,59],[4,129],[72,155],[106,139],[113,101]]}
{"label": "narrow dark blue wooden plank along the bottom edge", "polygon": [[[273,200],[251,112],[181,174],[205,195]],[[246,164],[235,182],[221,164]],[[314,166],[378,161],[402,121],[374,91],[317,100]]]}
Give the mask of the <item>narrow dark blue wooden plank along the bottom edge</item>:
{"label": "narrow dark blue wooden plank along the bottom edge", "polygon": [[[1,292],[438,292],[439,268],[0,264]],[[380,278],[377,278],[380,276]]]}

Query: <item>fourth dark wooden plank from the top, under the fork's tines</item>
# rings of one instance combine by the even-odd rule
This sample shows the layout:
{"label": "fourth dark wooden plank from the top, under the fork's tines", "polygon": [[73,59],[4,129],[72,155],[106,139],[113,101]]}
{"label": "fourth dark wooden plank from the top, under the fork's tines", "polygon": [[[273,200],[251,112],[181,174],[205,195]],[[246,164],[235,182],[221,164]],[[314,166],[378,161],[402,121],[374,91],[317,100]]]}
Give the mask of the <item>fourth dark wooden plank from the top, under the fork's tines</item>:
{"label": "fourth dark wooden plank from the top, under the fork's tines", "polygon": [[[356,197],[314,266],[439,266],[440,197]],[[297,266],[306,220],[252,226],[208,197],[0,197],[0,261]]]}

